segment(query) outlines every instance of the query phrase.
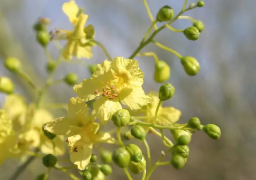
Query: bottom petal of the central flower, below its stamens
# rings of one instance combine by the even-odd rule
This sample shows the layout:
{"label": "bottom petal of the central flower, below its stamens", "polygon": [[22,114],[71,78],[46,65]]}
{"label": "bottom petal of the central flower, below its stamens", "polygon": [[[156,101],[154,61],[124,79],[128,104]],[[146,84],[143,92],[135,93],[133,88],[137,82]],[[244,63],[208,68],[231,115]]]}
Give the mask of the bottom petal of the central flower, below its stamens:
{"label": "bottom petal of the central flower, below its stamens", "polygon": [[100,122],[106,124],[117,110],[122,109],[122,106],[117,98],[109,100],[108,97],[100,97],[93,103],[93,109]]}

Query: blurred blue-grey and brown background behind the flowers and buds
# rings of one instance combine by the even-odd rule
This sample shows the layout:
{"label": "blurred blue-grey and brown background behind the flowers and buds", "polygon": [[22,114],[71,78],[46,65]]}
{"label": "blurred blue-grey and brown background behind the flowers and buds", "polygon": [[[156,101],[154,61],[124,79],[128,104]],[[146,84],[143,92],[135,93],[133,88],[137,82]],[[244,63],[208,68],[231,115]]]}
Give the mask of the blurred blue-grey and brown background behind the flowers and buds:
{"label": "blurred blue-grey and brown background behind the flowers and buds", "polygon": [[[32,93],[23,81],[3,67],[6,57],[20,59],[23,68],[32,80],[42,87],[47,78],[46,56],[35,40],[33,24],[38,17],[51,19],[49,29],[55,27],[72,29],[68,18],[61,11],[67,0],[1,0],[0,1],[0,76],[11,77],[16,91],[32,100]],[[142,0],[76,0],[89,14],[87,24],[96,29],[95,39],[106,46],[111,57],[128,57],[137,48],[151,22]],[[196,1],[189,0],[189,3]],[[176,94],[164,103],[182,111],[180,123],[190,117],[200,117],[203,124],[215,123],[221,127],[220,140],[212,140],[204,132],[196,133],[190,145],[186,166],[175,170],[172,166],[158,168],[151,180],[255,180],[256,179],[256,1],[255,0],[205,0],[206,6],[184,15],[202,20],[205,30],[197,41],[189,41],[182,33],[168,29],[157,35],[160,43],[177,50],[182,55],[193,56],[201,64],[195,77],[183,71],[180,61],[173,54],[153,44],[142,50],[154,51],[172,69],[169,82],[175,86]],[[164,5],[180,11],[183,0],[148,0],[152,14]],[[173,27],[184,29],[191,26],[189,20],[177,20]],[[58,55],[50,44],[53,57]],[[89,64],[101,63],[105,54],[97,46]],[[154,59],[136,57],[145,72],[143,88],[146,93],[158,91],[160,84],[153,80]],[[79,74],[79,81],[90,77],[90,72],[77,64],[63,64],[56,73],[56,79],[67,72]],[[71,87],[60,84],[50,89],[48,100],[67,103],[74,96]],[[0,104],[5,99],[0,94]],[[55,115],[64,114],[57,111]],[[148,135],[148,143],[157,160],[165,149],[160,138]],[[0,180],[7,180],[19,163],[7,160],[0,167]],[[127,179],[123,171],[113,166],[114,173],[109,180]],[[35,160],[20,176],[19,180],[34,180],[44,173],[41,160]],[[75,171],[76,172],[76,171]],[[140,179],[135,175],[134,179]],[[68,180],[66,174],[52,171],[50,180]]]}

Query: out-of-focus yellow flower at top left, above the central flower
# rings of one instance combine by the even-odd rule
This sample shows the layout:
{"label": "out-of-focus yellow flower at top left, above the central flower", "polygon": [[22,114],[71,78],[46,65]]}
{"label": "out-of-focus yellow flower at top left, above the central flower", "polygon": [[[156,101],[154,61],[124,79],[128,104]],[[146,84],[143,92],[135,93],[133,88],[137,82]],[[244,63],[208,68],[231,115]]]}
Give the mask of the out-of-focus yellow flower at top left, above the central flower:
{"label": "out-of-focus yellow flower at top left, above the central flower", "polygon": [[93,56],[91,47],[95,44],[91,42],[94,37],[93,26],[84,27],[88,15],[82,13],[74,0],[64,3],[62,10],[74,26],[73,31],[57,29],[57,36],[54,36],[54,39],[67,40],[63,51],[64,59],[70,60],[72,56],[90,59]]}

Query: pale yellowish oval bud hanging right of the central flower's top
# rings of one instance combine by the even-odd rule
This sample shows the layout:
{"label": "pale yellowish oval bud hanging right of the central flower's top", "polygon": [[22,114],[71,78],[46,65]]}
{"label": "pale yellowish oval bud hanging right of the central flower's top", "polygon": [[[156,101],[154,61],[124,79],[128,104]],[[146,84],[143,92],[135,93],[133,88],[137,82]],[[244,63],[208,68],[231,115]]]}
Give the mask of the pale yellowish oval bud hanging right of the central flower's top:
{"label": "pale yellowish oval bud hanging right of the central flower's top", "polygon": [[154,80],[157,83],[163,83],[169,80],[170,75],[171,69],[168,64],[163,60],[158,61],[155,65]]}

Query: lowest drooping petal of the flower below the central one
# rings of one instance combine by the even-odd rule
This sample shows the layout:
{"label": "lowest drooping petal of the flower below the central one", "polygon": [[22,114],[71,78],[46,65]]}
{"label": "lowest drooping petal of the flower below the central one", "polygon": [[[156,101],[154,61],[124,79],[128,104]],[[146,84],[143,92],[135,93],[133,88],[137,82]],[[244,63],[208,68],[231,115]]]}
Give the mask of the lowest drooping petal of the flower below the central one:
{"label": "lowest drooping petal of the flower below the central one", "polygon": [[84,170],[90,163],[90,157],[93,151],[93,144],[84,144],[84,146],[77,147],[77,151],[70,152],[70,160],[79,170]]}

